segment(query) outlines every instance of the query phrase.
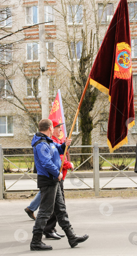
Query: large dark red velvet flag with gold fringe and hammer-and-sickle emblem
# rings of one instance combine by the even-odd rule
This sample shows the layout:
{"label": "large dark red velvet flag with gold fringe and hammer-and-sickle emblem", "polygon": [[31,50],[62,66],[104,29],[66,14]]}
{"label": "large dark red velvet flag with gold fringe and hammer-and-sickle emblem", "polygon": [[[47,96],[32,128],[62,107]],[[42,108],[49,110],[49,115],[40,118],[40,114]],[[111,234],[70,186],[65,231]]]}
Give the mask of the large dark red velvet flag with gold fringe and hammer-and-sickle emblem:
{"label": "large dark red velvet flag with gold fringe and hammer-and-sickle emblem", "polygon": [[90,83],[109,95],[110,152],[128,143],[134,125],[131,41],[127,0],[120,0],[90,72]]}

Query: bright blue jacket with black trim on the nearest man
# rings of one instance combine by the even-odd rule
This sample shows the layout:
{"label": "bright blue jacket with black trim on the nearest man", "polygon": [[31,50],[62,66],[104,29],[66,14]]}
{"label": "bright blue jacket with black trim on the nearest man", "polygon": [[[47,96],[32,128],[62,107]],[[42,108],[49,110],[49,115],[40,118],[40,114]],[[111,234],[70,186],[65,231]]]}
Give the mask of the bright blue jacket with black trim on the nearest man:
{"label": "bright blue jacket with black trim on the nearest man", "polygon": [[[43,142],[35,146],[35,143],[41,139],[43,139]],[[60,154],[64,154],[65,143],[60,145],[53,142],[52,139],[43,133],[37,132],[33,137],[31,146],[34,151],[34,160],[38,176],[46,176],[47,178],[50,178],[50,180],[56,179],[60,174]]]}

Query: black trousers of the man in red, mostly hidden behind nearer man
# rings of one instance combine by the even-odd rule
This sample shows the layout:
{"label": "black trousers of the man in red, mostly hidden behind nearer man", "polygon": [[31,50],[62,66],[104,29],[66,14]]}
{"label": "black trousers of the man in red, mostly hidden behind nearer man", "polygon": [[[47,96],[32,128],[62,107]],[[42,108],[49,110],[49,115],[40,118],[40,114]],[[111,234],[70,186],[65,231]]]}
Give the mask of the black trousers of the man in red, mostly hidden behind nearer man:
{"label": "black trousers of the man in red, mostly hidden behind nearer man", "polygon": [[[60,182],[60,188],[61,188],[61,193],[62,193],[62,197],[63,197],[63,201],[65,203],[65,195],[64,195],[64,185],[63,185],[64,180],[62,180]],[[43,232],[48,232],[48,233],[53,233],[53,232],[57,232],[56,230],[56,223],[57,223],[57,218],[55,213],[53,212],[53,214],[50,216],[50,218],[47,221],[46,226],[44,227]]]}

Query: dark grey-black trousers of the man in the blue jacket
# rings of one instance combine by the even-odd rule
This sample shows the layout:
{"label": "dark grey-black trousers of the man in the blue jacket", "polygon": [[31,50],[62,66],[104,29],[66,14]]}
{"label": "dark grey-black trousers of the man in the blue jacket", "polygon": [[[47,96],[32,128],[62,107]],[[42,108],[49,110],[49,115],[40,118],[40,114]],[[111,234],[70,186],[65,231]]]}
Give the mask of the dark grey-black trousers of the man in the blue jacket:
{"label": "dark grey-black trousers of the man in the blue jacket", "polygon": [[35,220],[35,225],[33,227],[33,234],[43,233],[46,222],[52,215],[53,211],[62,230],[71,226],[68,219],[68,213],[66,212],[66,206],[63,201],[60,183],[58,182],[52,186],[42,187],[40,190],[41,203]]}

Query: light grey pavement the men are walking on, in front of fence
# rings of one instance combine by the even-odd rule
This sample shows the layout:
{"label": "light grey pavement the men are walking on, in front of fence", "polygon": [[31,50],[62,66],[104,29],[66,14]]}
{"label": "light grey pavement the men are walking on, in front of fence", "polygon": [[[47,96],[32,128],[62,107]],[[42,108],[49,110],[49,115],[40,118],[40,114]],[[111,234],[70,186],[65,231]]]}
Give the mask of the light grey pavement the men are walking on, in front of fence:
{"label": "light grey pavement the men are walking on, in front of fence", "polygon": [[[0,200],[1,256],[136,256],[137,199],[69,199],[66,208],[76,234],[89,234],[87,241],[71,248],[67,238],[42,241],[48,252],[30,251],[34,221],[24,208],[31,200]],[[35,212],[36,215],[36,212]],[[57,224],[57,231],[63,233]]]}

